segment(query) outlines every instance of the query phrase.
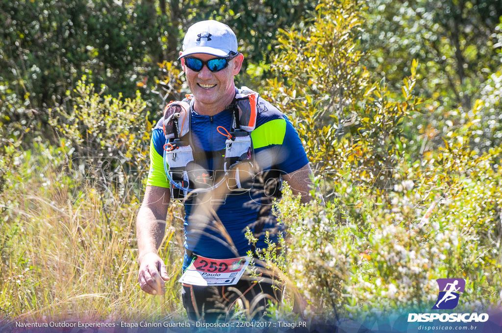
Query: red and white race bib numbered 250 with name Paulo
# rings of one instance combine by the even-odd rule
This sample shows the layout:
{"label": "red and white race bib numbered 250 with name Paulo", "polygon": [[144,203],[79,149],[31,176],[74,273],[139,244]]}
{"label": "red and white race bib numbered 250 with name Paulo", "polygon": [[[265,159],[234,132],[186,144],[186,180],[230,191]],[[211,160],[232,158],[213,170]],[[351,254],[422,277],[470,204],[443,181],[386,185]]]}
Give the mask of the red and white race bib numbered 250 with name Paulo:
{"label": "red and white race bib numbered 250 with name Paulo", "polygon": [[248,256],[232,259],[210,259],[196,256],[179,282],[194,285],[236,284],[244,274],[249,260]]}

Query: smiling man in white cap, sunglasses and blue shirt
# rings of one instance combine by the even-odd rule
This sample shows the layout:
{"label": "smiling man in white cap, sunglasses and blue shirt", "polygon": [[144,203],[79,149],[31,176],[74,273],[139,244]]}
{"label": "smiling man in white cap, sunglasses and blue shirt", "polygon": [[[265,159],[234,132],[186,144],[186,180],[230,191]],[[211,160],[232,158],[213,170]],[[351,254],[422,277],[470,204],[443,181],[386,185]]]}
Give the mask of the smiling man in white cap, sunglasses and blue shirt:
{"label": "smiling man in white cap, sunglasses and blue shirt", "polygon": [[[233,31],[217,21],[191,26],[180,52],[191,95],[169,105],[153,129],[150,172],[137,217],[141,288],[163,294],[168,280],[158,248],[170,200],[183,200],[182,300],[191,320],[225,320],[237,300],[254,318],[281,300],[266,270],[249,277],[246,253],[277,242],[283,230],[272,199],[284,180],[308,202],[312,171],[291,122],[234,76],[244,56]],[[246,228],[255,238],[250,244]],[[240,275],[242,274],[242,275]]]}

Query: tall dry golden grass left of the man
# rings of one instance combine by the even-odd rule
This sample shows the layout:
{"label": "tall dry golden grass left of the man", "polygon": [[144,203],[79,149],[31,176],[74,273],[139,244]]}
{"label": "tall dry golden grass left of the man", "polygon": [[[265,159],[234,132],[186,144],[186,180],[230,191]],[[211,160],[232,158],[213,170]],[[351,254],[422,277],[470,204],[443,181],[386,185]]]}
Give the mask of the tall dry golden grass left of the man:
{"label": "tall dry golden grass left of the man", "polygon": [[[12,320],[158,320],[184,315],[177,276],[182,240],[169,225],[163,296],[137,281],[135,217],[112,183],[67,168],[64,148],[36,143],[12,158],[0,194],[0,326]],[[130,181],[127,187],[137,187]],[[131,195],[131,193],[129,194]],[[138,200],[136,200],[137,202]],[[170,208],[176,216],[178,207]],[[173,218],[173,223],[176,223]]]}

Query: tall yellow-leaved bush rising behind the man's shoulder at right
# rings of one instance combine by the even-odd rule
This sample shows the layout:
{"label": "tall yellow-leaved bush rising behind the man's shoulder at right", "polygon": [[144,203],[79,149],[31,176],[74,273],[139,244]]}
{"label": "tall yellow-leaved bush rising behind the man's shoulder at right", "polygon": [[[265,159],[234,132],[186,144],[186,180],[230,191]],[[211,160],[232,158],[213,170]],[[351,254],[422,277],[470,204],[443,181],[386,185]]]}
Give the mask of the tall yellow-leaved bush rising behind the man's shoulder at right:
{"label": "tall yellow-leaved bush rising behind the man's shoulder at right", "polygon": [[374,182],[369,178],[405,157],[400,124],[420,102],[412,94],[417,63],[402,100],[390,97],[385,81],[372,83],[355,48],[359,11],[350,1],[324,1],[312,25],[283,32],[272,68],[284,79],[269,80],[267,94],[294,119],[315,171],[329,175],[350,166],[352,176]]}

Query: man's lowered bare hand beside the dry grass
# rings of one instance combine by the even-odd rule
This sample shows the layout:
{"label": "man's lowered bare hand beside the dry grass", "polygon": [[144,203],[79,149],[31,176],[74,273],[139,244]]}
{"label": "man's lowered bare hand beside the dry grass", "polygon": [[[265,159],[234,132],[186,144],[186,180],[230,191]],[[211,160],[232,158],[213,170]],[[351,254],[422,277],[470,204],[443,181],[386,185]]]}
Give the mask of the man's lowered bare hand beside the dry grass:
{"label": "man's lowered bare hand beside the dry grass", "polygon": [[166,283],[169,280],[166,265],[156,253],[147,253],[140,259],[138,281],[143,291],[152,295],[166,293]]}

